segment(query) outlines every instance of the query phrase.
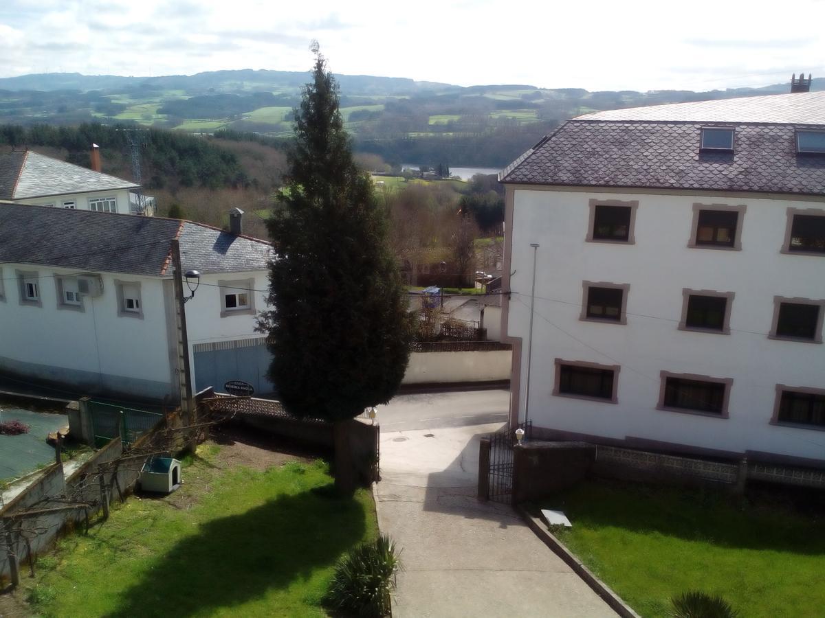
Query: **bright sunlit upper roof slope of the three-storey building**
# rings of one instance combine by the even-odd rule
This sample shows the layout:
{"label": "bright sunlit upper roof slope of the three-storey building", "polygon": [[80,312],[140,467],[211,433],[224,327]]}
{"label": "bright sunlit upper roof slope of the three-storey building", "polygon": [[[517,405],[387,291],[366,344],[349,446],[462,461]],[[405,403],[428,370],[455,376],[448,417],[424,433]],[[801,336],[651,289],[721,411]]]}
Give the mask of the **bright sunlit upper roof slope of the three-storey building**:
{"label": "bright sunlit upper roof slope of the three-storey building", "polygon": [[825,91],[597,111],[577,120],[825,124]]}

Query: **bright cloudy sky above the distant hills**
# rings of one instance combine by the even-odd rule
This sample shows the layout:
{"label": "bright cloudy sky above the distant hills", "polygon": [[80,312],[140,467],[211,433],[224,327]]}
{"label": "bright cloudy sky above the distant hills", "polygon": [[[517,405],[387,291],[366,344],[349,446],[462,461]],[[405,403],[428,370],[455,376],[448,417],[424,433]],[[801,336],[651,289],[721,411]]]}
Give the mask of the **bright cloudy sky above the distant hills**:
{"label": "bright cloudy sky above the distant hills", "polygon": [[[766,8],[761,8],[766,7]],[[0,0],[0,77],[308,70],[588,90],[825,77],[825,0]]]}

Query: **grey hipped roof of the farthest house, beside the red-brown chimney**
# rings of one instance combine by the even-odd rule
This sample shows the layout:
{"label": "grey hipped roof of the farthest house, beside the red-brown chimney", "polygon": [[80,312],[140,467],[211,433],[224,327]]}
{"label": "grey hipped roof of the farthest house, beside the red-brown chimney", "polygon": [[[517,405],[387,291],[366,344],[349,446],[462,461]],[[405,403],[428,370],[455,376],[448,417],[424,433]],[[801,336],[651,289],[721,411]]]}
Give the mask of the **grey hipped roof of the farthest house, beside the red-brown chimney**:
{"label": "grey hipped roof of the farthest house, beside the red-brown chimney", "polygon": [[0,154],[0,199],[30,199],[46,195],[135,189],[138,186],[129,180],[101,174],[31,150]]}

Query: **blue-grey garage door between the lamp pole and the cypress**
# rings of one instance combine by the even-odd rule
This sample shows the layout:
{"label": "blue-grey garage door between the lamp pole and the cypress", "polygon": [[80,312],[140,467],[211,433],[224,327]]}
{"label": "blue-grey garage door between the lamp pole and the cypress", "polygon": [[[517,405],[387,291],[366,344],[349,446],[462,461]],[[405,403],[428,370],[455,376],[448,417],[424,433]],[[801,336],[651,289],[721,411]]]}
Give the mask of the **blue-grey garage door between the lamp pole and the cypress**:
{"label": "blue-grey garage door between the lamp pole and the cypress", "polygon": [[266,379],[272,356],[262,337],[196,344],[192,351],[196,391],[212,386],[222,392],[229,380],[243,380],[252,384],[256,396],[275,393],[275,386]]}

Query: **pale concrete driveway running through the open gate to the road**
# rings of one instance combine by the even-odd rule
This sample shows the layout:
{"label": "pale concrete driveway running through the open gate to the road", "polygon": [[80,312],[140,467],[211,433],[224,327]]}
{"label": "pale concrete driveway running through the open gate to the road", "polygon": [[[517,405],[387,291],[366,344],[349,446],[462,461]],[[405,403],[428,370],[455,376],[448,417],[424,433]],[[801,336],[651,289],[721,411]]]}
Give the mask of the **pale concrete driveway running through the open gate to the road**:
{"label": "pale concrete driveway running through the open gate to the road", "polygon": [[502,423],[461,417],[506,412],[506,395],[401,396],[380,410],[378,519],[403,562],[394,618],[615,616],[511,507],[476,499],[479,438]]}

